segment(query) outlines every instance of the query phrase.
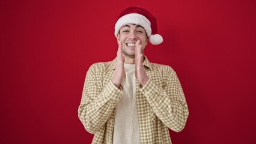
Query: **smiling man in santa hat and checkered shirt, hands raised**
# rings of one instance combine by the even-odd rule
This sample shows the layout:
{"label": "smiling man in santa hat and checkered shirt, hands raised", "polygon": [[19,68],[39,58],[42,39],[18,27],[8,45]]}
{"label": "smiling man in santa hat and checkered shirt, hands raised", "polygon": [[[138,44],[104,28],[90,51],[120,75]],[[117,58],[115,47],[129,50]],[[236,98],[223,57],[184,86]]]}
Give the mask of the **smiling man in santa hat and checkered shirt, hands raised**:
{"label": "smiling man in santa hat and checkered shirt, hands raised", "polygon": [[92,143],[171,143],[168,128],[183,130],[188,109],[175,71],[143,55],[148,41],[160,44],[156,19],[141,7],[123,10],[115,24],[114,61],[91,65],[79,119]]}

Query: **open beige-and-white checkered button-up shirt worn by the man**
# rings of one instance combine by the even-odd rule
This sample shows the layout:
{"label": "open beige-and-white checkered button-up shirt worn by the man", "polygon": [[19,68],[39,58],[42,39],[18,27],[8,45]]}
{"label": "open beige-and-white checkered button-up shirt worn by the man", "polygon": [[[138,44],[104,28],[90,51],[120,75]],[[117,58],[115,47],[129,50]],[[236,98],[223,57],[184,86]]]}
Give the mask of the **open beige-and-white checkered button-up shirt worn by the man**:
{"label": "open beige-and-white checkered button-up shirt worn by the man", "polygon": [[[115,106],[123,94],[111,82],[116,61],[93,64],[87,71],[78,116],[94,134],[92,143],[112,143]],[[143,64],[148,82],[141,87],[136,79],[141,143],[171,143],[168,128],[183,130],[189,115],[180,81],[167,65],[150,63],[146,57]]]}

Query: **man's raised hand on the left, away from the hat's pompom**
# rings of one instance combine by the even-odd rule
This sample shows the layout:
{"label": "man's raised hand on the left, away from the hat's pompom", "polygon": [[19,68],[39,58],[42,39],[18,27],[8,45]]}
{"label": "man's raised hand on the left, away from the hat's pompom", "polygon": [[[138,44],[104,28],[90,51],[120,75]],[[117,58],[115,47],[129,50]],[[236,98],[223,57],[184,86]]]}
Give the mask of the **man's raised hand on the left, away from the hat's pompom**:
{"label": "man's raised hand on the left, away from the hat's pompom", "polygon": [[118,41],[118,50],[117,50],[117,64],[115,65],[115,71],[114,75],[111,79],[112,83],[117,86],[117,88],[120,87],[121,83],[124,80],[124,55],[122,51],[123,44],[121,41]]}

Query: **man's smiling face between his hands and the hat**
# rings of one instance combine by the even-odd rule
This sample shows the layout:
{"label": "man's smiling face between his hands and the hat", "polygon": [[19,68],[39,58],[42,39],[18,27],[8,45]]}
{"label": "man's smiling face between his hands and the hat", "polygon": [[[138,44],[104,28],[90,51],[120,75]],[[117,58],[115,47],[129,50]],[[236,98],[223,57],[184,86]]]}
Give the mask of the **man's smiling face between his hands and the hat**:
{"label": "man's smiling face between his hands and the hat", "polygon": [[147,45],[147,35],[145,29],[139,25],[127,24],[121,27],[117,40],[122,44],[124,55],[135,58],[135,43],[140,40],[142,52]]}

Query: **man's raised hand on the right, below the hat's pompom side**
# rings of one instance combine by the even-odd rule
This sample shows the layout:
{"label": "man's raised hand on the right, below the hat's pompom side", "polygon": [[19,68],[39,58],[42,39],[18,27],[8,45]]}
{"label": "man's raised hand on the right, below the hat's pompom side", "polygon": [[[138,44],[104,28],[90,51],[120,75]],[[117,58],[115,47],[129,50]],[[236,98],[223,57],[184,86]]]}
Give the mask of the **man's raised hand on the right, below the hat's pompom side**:
{"label": "man's raised hand on the right, below the hat's pompom side", "polygon": [[145,72],[144,65],[144,56],[142,54],[142,45],[141,41],[138,40],[135,43],[135,76],[139,80],[139,83],[141,83],[142,86],[144,86],[148,82],[148,76]]}

